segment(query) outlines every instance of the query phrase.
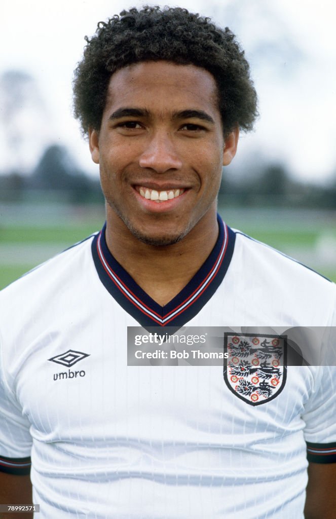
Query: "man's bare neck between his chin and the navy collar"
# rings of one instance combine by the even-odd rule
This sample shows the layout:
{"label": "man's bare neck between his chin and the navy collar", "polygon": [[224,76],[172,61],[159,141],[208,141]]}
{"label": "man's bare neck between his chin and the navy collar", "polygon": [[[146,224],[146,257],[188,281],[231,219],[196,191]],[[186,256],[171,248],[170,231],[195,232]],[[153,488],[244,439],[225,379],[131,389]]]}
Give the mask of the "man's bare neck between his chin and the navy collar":
{"label": "man's bare neck between his chin and the navy collar", "polygon": [[216,208],[209,210],[181,241],[156,247],[132,235],[111,209],[106,212],[110,252],[159,305],[176,296],[203,265],[218,238]]}

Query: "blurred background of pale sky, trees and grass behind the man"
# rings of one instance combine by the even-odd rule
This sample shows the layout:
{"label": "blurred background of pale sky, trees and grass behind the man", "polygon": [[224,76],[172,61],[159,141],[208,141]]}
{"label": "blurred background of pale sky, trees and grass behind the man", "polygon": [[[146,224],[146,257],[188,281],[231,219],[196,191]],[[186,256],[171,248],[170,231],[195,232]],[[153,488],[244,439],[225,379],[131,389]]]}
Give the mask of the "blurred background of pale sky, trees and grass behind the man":
{"label": "blurred background of pale sky, trees and grass behind the man", "polygon": [[[84,36],[144,2],[3,0],[0,19],[0,288],[98,230],[98,168],[72,117]],[[177,5],[170,1],[158,5]],[[336,7],[331,0],[181,0],[229,26],[260,117],[223,171],[235,228],[336,281]]]}

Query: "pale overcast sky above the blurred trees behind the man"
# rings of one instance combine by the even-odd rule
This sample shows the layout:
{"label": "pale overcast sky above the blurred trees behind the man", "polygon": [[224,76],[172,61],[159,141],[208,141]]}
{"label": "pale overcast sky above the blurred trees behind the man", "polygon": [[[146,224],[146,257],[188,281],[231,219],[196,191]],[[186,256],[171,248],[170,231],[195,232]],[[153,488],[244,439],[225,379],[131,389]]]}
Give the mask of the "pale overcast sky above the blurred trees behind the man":
{"label": "pale overcast sky above the blurred trees behind the man", "polygon": [[[3,0],[0,19],[0,75],[23,70],[33,76],[44,102],[37,120],[22,119],[30,140],[23,159],[31,163],[48,142],[66,144],[80,167],[97,171],[72,118],[72,74],[84,36],[99,20],[144,2],[120,0]],[[243,136],[237,165],[258,155],[283,161],[301,178],[336,175],[336,37],[333,0],[181,0],[238,36],[250,61],[259,94],[256,131]],[[2,110],[2,114],[4,114]],[[28,118],[28,119],[27,119]],[[10,159],[6,125],[0,136],[0,169]],[[13,155],[11,153],[11,155]],[[23,160],[22,159],[22,160]]]}

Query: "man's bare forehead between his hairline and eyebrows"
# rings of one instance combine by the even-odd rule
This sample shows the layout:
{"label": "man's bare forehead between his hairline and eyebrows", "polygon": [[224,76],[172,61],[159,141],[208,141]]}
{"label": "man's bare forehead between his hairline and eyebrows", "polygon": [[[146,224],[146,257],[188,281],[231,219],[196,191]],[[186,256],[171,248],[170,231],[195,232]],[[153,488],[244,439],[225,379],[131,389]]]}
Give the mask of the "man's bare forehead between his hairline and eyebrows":
{"label": "man's bare forehead between his hairline and eyebrows", "polygon": [[135,105],[154,111],[198,108],[220,117],[218,90],[212,74],[195,65],[168,61],[132,64],[112,75],[105,110]]}

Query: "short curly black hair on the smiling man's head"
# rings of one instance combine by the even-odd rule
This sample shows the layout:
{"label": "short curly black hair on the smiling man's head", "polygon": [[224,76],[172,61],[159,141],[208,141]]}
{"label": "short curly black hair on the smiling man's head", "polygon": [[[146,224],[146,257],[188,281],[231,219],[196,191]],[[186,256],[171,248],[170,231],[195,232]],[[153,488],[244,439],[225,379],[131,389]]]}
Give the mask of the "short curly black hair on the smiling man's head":
{"label": "short curly black hair on the smiling man's head", "polygon": [[74,115],[84,135],[100,129],[111,75],[132,63],[158,60],[206,69],[218,85],[224,134],[236,126],[252,129],[257,93],[244,51],[228,28],[180,7],[145,6],[99,22],[96,34],[85,40],[73,82]]}

